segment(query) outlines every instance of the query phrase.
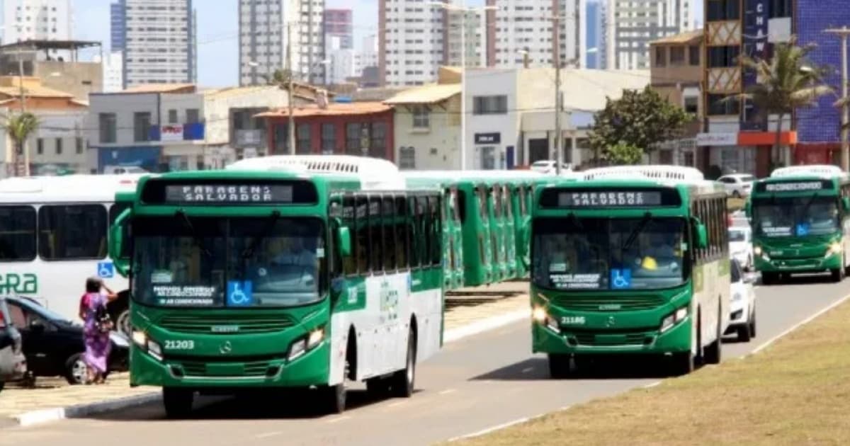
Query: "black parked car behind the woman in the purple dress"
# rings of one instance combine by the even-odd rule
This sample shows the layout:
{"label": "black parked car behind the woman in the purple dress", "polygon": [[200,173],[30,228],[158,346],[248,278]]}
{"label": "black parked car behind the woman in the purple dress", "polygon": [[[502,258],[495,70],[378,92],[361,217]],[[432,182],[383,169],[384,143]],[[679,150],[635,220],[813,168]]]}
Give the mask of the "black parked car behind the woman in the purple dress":
{"label": "black parked car behind the woman in the purple dress", "polygon": [[[82,342],[82,325],[26,297],[7,297],[6,302],[13,324],[20,327],[31,378],[61,375],[71,384],[85,382],[87,370],[82,353],[86,347]],[[115,331],[110,337],[109,370],[127,370],[127,337]]]}

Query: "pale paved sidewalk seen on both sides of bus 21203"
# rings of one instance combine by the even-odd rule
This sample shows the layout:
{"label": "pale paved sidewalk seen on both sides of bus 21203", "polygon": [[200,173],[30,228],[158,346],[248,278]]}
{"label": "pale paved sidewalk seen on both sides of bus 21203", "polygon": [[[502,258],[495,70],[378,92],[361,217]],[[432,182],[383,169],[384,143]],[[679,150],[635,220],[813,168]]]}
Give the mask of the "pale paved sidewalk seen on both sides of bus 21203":
{"label": "pale paved sidewalk seen on both sides of bus 21203", "polygon": [[[490,292],[527,292],[524,291],[527,290],[526,283],[500,284],[498,289],[494,288],[490,287]],[[445,310],[445,342],[454,342],[527,317],[528,305],[525,294],[494,297],[470,293],[449,298]],[[64,378],[58,377],[38,378],[35,388],[7,383],[0,392],[0,427],[26,426],[144,404],[157,398],[159,392],[157,387],[129,387],[127,373],[110,375],[106,384],[99,386],[71,386]]]}

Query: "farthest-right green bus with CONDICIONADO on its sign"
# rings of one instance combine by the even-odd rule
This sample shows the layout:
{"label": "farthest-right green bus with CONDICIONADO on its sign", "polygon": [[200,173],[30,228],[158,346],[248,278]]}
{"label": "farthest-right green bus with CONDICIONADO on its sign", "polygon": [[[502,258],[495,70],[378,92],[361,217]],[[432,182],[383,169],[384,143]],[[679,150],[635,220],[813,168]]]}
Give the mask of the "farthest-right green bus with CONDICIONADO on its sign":
{"label": "farthest-right green bus with CONDICIONADO on its sign", "polygon": [[774,170],[746,204],[753,261],[770,285],[782,276],[830,272],[840,282],[850,248],[850,177],[835,166]]}

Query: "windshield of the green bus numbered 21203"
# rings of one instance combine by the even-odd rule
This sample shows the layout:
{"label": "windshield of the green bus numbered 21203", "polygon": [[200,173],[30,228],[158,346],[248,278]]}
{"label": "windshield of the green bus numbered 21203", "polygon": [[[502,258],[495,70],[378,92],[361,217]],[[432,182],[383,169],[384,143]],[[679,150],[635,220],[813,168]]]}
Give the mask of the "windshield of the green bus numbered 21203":
{"label": "windshield of the green bus numbered 21203", "polygon": [[292,307],[326,289],[324,225],[307,217],[142,217],[133,298],[161,307]]}

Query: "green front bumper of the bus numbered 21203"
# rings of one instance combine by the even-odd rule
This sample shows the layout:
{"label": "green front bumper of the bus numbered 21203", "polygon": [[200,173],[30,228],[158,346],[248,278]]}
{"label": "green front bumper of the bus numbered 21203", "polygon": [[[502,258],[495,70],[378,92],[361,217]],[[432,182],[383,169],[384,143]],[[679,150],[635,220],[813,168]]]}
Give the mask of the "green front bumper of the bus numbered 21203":
{"label": "green front bumper of the bus numbered 21203", "polygon": [[[327,342],[301,357],[248,362],[204,362],[200,358],[155,358],[133,346],[130,385],[188,388],[309,387],[326,384],[330,347]],[[269,356],[275,356],[269,355]]]}

